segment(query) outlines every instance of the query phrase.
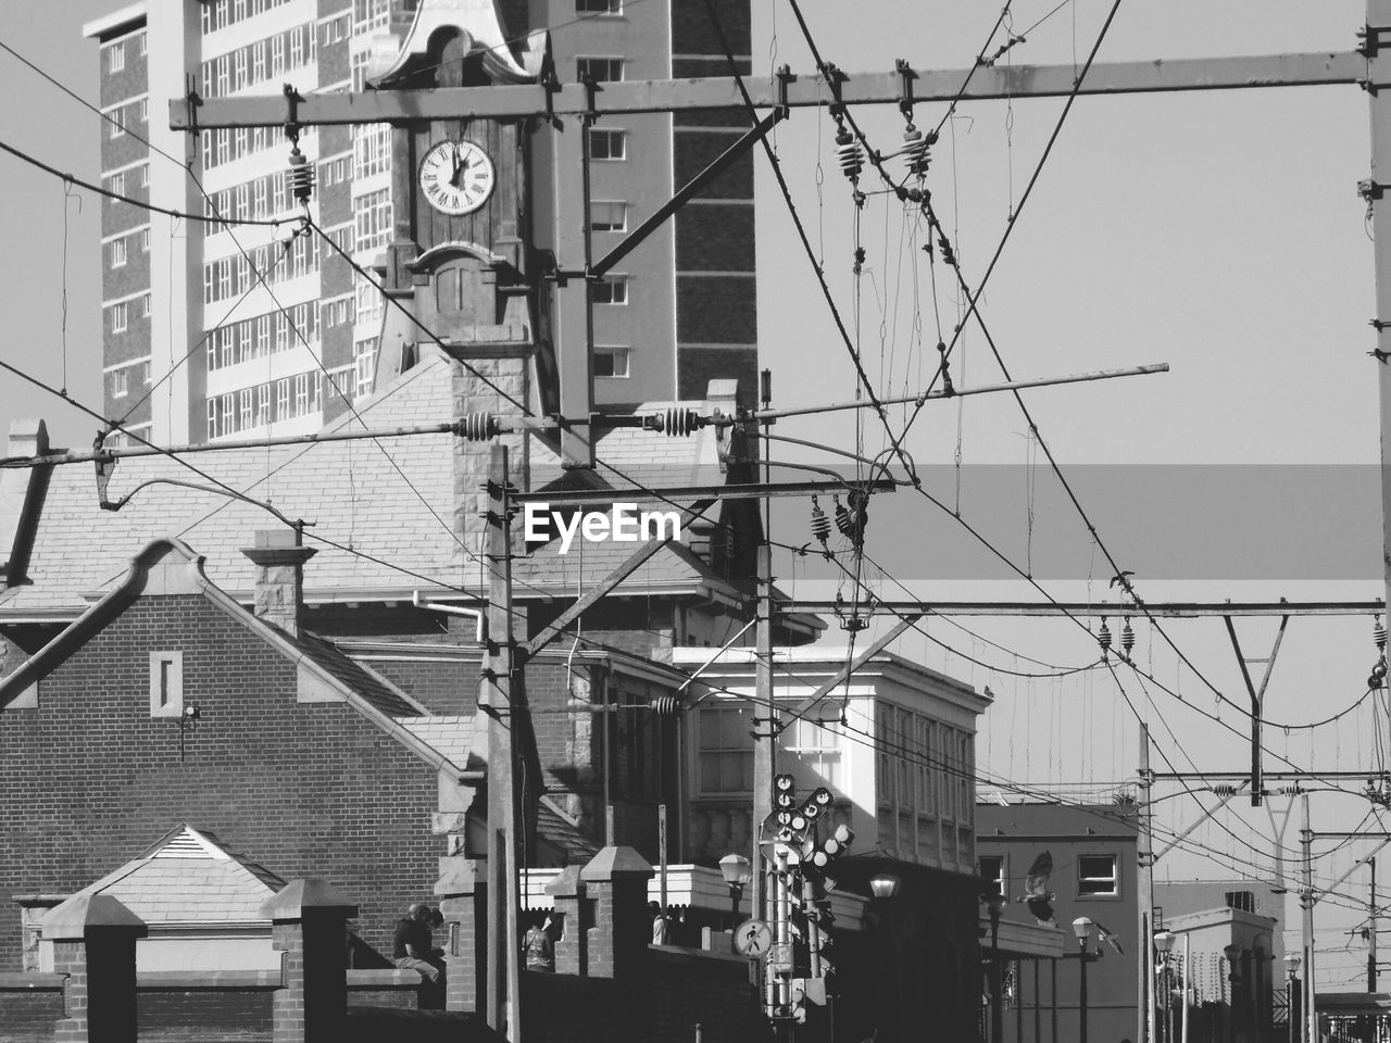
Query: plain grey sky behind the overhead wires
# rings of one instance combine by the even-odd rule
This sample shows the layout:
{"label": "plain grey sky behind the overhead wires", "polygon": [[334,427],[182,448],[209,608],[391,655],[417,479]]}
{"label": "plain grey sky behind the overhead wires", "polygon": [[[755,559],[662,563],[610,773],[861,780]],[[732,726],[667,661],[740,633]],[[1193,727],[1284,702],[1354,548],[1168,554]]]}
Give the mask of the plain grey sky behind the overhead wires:
{"label": "plain grey sky behind the overhead wires", "polygon": [[[82,39],[81,24],[113,7],[64,0],[46,8],[43,19],[8,19],[0,40],[95,100],[96,47]],[[786,63],[812,75],[787,3],[754,7],[755,71]],[[805,0],[801,7],[823,57],[851,74],[889,71],[899,57],[917,68],[964,70],[999,15],[997,6],[971,0]],[[1027,39],[1006,60],[1085,60],[1110,3],[1054,7],[1056,0],[1011,3],[1013,28]],[[1348,50],[1356,46],[1362,14],[1352,0],[1124,0],[1097,60]],[[96,179],[95,114],[6,53],[0,85],[22,100],[0,113],[0,140]],[[972,103],[943,128],[926,185],[970,285],[993,254],[1061,108],[1059,99]],[[160,111],[161,102],[152,100],[152,113]],[[922,106],[918,122],[935,125],[942,115],[943,106]],[[887,152],[901,140],[903,117],[893,106],[858,118],[876,147]],[[860,213],[865,263],[855,285],[855,209],[830,154],[833,134],[823,113],[797,111],[776,132],[778,156],[878,391],[914,392],[935,370],[938,323],[950,338],[958,300],[940,266],[933,295],[921,232],[885,195],[871,195]],[[1039,434],[1095,512],[1102,542],[1121,567],[1135,569],[1136,590],[1148,601],[1381,597],[1378,420],[1367,357],[1372,243],[1355,192],[1369,177],[1367,142],[1367,96],[1352,86],[1082,97],[1018,213],[981,307],[1013,375],[1171,366],[1161,375],[1025,392]],[[0,234],[11,243],[0,261],[8,334],[0,360],[67,387],[79,402],[99,403],[99,203],[81,192],[65,200],[58,179],[8,156],[0,156],[0,178],[7,200]],[[874,188],[874,179],[867,175],[861,186]],[[775,405],[847,399],[854,369],[761,159],[757,193],[759,349],[761,363],[773,371]],[[971,325],[951,367],[960,387],[1000,380]],[[57,444],[83,445],[96,431],[96,421],[72,406],[0,373],[0,420],[8,426],[29,416],[43,416]],[[893,413],[896,428],[901,417]],[[776,430],[875,456],[885,438],[872,417],[862,420],[860,431],[849,414],[789,420]],[[906,448],[931,474],[929,488],[964,520],[1015,559],[1038,562],[1035,573],[1049,594],[1117,597],[1107,585],[1104,555],[1049,476],[1013,399],[929,403]],[[958,455],[960,485],[953,467]],[[782,459],[825,456],[787,445]],[[1232,470],[1216,487],[1203,487],[1202,476],[1212,474],[1203,469],[1212,464]],[[879,499],[892,502],[881,506]],[[805,509],[793,501],[779,505],[775,538],[808,540]],[[867,584],[885,597],[897,591],[896,581],[915,597],[942,599],[1042,597],[997,570],[978,569],[965,558],[970,544],[949,512],[911,491],[876,498],[867,552],[889,573],[869,567]],[[1237,567],[1241,549],[1251,551],[1251,560]],[[814,566],[779,556],[779,584],[794,594],[829,595],[835,581]],[[1150,725],[1156,768],[1241,770],[1249,761],[1239,736],[1246,720],[1182,666],[1149,623],[1136,626],[1135,658],[1182,698],[1153,687],[1146,694],[1125,670],[1120,684],[1106,669],[1067,677],[1006,673],[1095,665],[1095,638],[1066,620],[960,623],[975,636],[933,622],[929,636],[912,634],[896,648],[990,688],[996,701],[981,722],[978,758],[993,779],[1104,800],[1135,777],[1138,718]],[[1246,655],[1266,655],[1274,624],[1237,626]],[[1111,629],[1118,641],[1118,620]],[[1238,704],[1245,700],[1219,620],[1166,623],[1164,633],[1216,688]],[[846,634],[832,622],[826,640],[844,642]],[[1269,719],[1295,726],[1349,706],[1366,690],[1374,655],[1366,616],[1294,620],[1273,672]],[[1301,768],[1362,770],[1381,763],[1387,729],[1385,715],[1374,716],[1370,702],[1321,729],[1271,726],[1267,768],[1285,757]],[[1161,829],[1185,827],[1200,814],[1200,801],[1173,786],[1163,797]],[[1174,852],[1156,875],[1230,875],[1252,862],[1253,872],[1269,875],[1277,848],[1271,819],[1266,809],[1235,804],[1193,834],[1213,858]],[[1287,804],[1274,801],[1277,819]],[[1355,795],[1316,794],[1313,804],[1316,830],[1360,827],[1369,815],[1367,802]],[[1367,825],[1381,829],[1374,819]],[[1296,830],[1298,812],[1278,843],[1296,850]],[[1356,841],[1320,858],[1320,879],[1331,882],[1367,850]],[[1359,872],[1338,890],[1365,900],[1363,880]],[[1353,980],[1365,961],[1360,939],[1344,933],[1356,926],[1358,914],[1335,901],[1341,898],[1319,911],[1321,987]],[[1298,925],[1296,918],[1289,922]]]}

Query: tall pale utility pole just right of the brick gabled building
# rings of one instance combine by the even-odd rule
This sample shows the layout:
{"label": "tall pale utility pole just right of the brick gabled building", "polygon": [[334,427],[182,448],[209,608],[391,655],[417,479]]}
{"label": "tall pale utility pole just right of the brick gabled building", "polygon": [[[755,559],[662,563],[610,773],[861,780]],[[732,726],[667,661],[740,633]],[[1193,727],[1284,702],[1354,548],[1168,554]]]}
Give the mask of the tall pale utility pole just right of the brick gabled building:
{"label": "tall pale utility pole just right of the brick gabled building", "polygon": [[[515,738],[526,715],[522,670],[513,673],[512,547],[508,523],[508,448],[488,459],[488,640],[479,709],[488,719],[488,1025],[522,1040],[522,939],[517,933],[517,846],[522,794]],[[527,722],[529,723],[529,722]],[[530,729],[527,729],[530,731]]]}

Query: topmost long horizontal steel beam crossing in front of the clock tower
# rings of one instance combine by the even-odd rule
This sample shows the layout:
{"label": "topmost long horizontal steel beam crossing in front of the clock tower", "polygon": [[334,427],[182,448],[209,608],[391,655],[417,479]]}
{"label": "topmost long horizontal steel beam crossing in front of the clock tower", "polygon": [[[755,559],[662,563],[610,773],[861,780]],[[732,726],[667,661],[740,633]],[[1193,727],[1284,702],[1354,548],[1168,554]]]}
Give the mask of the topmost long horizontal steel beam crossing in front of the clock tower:
{"label": "topmost long horizontal steel beam crossing in front of the clock tower", "polygon": [[[1075,86],[1077,70],[1071,64],[932,70],[911,75],[912,102],[929,104],[957,97],[963,102],[1067,97],[1074,89],[1079,95],[1142,95],[1362,83],[1367,79],[1367,61],[1356,51],[1335,51],[1097,63],[1079,88]],[[833,102],[815,74],[786,79],[747,76],[744,83],[758,108],[817,108]],[[282,95],[181,97],[170,102],[170,127],[175,131],[280,127],[291,118],[302,127],[460,118],[545,120],[552,115],[601,117],[744,107],[730,76],[626,81],[600,86],[593,99],[583,83],[563,83],[554,93],[540,85],[522,85],[310,95],[298,99],[294,111],[289,99]],[[846,104],[897,104],[903,97],[903,74],[897,71],[851,72],[840,82],[840,99]]]}

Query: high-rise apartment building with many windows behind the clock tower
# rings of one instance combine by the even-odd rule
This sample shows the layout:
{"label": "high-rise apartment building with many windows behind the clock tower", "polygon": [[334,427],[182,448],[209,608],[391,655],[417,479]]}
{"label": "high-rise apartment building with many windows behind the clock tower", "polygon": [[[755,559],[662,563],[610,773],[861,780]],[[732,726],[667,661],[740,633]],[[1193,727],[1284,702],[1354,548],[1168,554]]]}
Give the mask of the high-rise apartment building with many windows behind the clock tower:
{"label": "high-rise apartment building with many windows behind the clock tower", "polygon": [[[479,4],[472,4],[477,7]],[[385,33],[451,0],[160,0],[88,24],[102,70],[106,188],[161,207],[280,224],[204,224],[103,200],[104,412],[156,444],[313,431],[371,394],[384,298],[312,232],[299,232],[291,149],[314,164],[310,214],[369,271],[394,242],[402,193],[384,124],[168,129],[168,102],[362,90]],[[469,4],[463,6],[469,7]],[[509,39],[549,31],[562,81],[721,75],[704,4],[497,0]],[[747,70],[747,0],[721,0]],[[595,254],[743,132],[739,110],[605,117],[590,129]],[[554,221],[555,164],[526,147],[533,228]],[[399,139],[398,139],[399,140]],[[574,174],[579,177],[579,174]],[[549,238],[549,236],[548,236]],[[715,377],[754,395],[753,161],[746,156],[593,288],[594,398],[625,406],[701,398]],[[438,420],[441,417],[423,417]],[[118,438],[118,437],[117,437]]]}

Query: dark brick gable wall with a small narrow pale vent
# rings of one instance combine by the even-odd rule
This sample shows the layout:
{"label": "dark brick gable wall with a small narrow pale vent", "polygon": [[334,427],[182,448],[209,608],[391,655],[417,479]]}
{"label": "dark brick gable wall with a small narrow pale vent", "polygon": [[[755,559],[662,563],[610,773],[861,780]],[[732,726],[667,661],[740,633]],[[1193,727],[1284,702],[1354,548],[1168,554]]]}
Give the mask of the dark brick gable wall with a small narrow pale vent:
{"label": "dark brick gable wall with a small narrow pale vent", "polygon": [[[184,652],[185,737],[149,716],[149,652]],[[149,597],[0,713],[0,894],[75,891],[179,822],[285,879],[324,876],[371,946],[427,897],[433,769],[344,704],[296,704],[295,668],[199,595]],[[389,950],[388,950],[389,951]],[[0,971],[19,968],[0,907]]]}

